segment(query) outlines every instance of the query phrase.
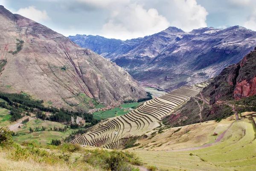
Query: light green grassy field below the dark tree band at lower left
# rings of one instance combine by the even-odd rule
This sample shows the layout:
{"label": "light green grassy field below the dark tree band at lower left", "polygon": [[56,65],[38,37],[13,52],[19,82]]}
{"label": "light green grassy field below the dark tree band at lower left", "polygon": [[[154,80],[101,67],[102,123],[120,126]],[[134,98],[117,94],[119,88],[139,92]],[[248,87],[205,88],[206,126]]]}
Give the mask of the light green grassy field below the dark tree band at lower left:
{"label": "light green grassy field below the dark tree band at lower left", "polygon": [[[42,126],[46,127],[45,131],[39,131],[39,132],[29,132],[29,127],[35,130],[36,127],[39,127],[39,129],[42,128]],[[21,143],[28,140],[33,140],[35,142],[41,143],[41,144],[47,144],[50,143],[52,139],[63,139],[72,131],[68,129],[65,132],[57,132],[57,131],[48,131],[50,128],[58,127],[58,128],[64,128],[63,124],[60,124],[58,122],[51,122],[51,121],[42,121],[41,119],[35,119],[27,122],[25,125],[23,125],[22,128],[16,131],[18,136],[14,136],[13,139],[17,143]]]}

